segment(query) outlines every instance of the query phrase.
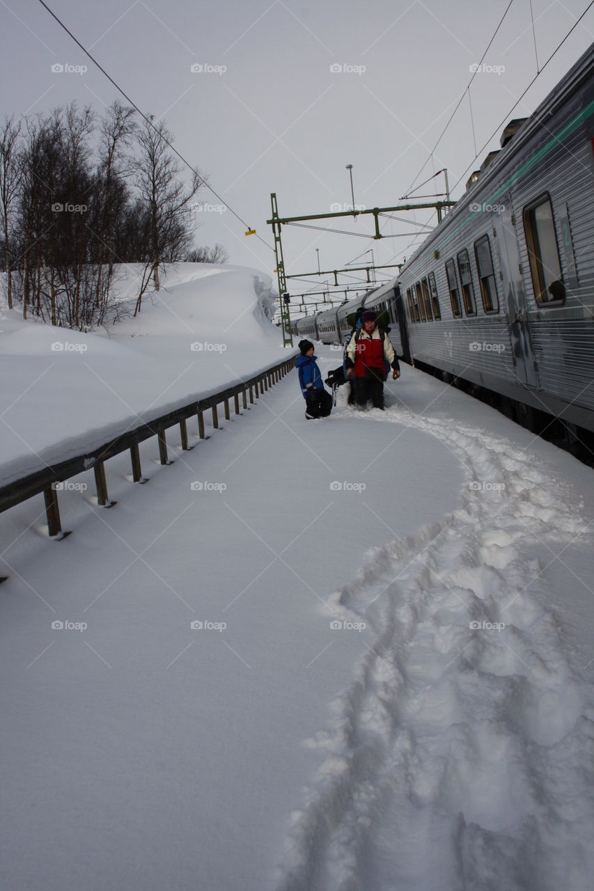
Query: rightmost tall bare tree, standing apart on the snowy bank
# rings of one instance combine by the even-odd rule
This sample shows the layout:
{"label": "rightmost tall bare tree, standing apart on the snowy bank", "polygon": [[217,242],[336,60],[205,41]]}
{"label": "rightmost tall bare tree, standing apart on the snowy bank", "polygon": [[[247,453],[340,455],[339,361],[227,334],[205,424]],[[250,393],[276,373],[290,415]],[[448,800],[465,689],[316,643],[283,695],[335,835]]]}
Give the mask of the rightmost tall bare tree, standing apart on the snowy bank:
{"label": "rightmost tall bare tree, standing apart on the snowy bank", "polygon": [[[155,290],[159,290],[159,267],[186,253],[191,238],[187,205],[198,191],[202,178],[194,170],[188,189],[178,179],[182,168],[170,152],[173,137],[163,121],[145,121],[138,136],[140,156],[136,160],[136,188],[149,218],[148,263]],[[142,293],[136,302],[140,311]]]}

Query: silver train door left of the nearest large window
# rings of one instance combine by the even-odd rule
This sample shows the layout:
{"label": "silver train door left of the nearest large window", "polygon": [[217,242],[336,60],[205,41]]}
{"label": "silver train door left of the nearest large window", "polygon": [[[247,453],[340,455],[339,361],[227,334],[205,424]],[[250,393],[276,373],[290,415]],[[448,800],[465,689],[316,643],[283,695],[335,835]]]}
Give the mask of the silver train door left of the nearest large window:
{"label": "silver train door left of the nearest large window", "polygon": [[520,383],[526,384],[528,387],[538,387],[536,362],[528,321],[528,301],[517,243],[517,226],[520,224],[514,216],[514,208],[509,194],[499,197],[496,208],[491,212],[491,219],[493,230],[497,233],[496,241],[501,271],[499,284],[507,313],[516,376]]}

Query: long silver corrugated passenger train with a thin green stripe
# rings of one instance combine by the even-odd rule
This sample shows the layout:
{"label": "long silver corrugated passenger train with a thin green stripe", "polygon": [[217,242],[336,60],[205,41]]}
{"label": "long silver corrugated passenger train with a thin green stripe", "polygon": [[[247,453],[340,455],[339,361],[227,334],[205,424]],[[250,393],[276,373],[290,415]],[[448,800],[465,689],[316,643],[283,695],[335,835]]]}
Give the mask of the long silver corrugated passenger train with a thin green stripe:
{"label": "long silver corrugated passenger train with a thin green stripe", "polygon": [[357,307],[385,309],[405,361],[580,439],[594,432],[594,44],[500,144],[398,278],[293,334],[342,343]]}

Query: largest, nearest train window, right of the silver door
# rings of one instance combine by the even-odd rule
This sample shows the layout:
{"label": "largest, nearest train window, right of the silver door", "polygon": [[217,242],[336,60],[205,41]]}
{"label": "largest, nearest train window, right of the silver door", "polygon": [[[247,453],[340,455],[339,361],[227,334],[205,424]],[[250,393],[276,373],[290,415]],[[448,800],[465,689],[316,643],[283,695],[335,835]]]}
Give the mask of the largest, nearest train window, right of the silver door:
{"label": "largest, nearest train window, right of the silver door", "polygon": [[524,232],[535,298],[539,303],[563,302],[565,285],[549,195],[524,209]]}

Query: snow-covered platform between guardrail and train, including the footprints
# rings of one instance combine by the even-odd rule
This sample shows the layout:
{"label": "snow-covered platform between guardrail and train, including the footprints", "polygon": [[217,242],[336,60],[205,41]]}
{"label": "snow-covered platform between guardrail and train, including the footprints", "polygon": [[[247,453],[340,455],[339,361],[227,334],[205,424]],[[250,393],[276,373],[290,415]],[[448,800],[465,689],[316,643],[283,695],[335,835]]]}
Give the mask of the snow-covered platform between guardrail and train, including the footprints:
{"label": "snow-covered platform between guardrail and train, including the footprints", "polygon": [[591,888],[592,470],[388,393],[306,421],[293,372],[60,543],[0,517],[2,887]]}

